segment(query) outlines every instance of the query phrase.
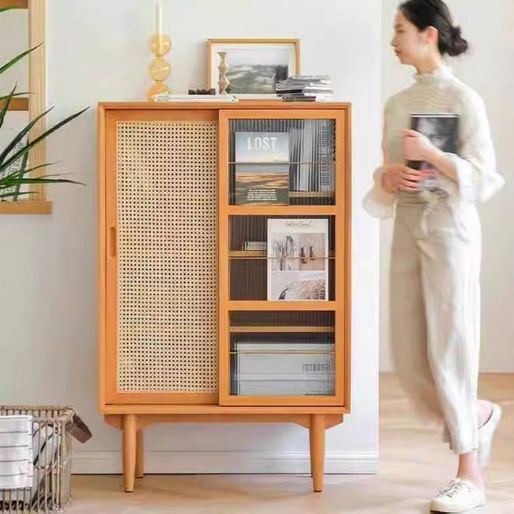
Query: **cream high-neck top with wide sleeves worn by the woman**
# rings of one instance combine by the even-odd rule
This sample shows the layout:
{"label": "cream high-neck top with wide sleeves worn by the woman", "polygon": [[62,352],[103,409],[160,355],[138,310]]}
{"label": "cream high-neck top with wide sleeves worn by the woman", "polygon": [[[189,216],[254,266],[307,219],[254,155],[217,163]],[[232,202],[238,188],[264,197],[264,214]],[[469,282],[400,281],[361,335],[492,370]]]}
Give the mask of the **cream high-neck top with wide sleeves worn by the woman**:
{"label": "cream high-neck top with wide sleeves worn by the woman", "polygon": [[[410,114],[458,114],[460,151],[448,153],[455,166],[458,182],[439,173],[438,188],[448,193],[454,208],[485,201],[505,183],[495,170],[495,151],[488,118],[480,96],[458,80],[448,68],[440,66],[429,74],[416,74],[415,83],[391,96],[385,104],[384,163],[403,163],[401,131],[410,129]],[[373,174],[373,187],[363,199],[366,211],[376,218],[393,216],[397,194],[381,186],[383,168]],[[420,194],[420,193],[415,193]]]}

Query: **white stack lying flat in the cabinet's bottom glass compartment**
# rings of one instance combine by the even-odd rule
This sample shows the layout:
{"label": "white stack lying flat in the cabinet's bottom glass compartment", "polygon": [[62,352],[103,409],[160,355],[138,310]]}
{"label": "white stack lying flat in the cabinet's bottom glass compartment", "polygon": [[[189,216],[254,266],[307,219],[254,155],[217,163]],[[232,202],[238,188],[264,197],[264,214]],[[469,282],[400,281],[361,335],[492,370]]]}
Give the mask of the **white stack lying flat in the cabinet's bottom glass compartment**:
{"label": "white stack lying flat in the cabinet's bottom glass compartment", "polygon": [[333,343],[235,341],[232,394],[333,395]]}

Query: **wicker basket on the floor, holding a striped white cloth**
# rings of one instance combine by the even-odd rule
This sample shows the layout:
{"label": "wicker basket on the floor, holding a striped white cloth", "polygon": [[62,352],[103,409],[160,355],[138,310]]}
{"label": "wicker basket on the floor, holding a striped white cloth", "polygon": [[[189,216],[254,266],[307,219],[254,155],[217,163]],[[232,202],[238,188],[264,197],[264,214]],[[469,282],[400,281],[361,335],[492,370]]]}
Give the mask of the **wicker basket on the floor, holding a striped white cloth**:
{"label": "wicker basket on the floor, holding a striped white cloth", "polygon": [[73,426],[75,410],[46,405],[0,405],[0,416],[4,415],[33,416],[34,479],[30,489],[0,489],[0,513],[63,512],[71,493],[69,427]]}

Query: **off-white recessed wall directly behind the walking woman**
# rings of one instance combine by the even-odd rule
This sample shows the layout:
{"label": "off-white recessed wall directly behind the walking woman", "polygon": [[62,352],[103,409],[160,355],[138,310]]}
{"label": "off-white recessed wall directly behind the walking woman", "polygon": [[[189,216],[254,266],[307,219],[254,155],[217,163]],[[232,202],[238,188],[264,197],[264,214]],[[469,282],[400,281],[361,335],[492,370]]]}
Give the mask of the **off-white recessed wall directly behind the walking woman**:
{"label": "off-white recessed wall directly behind the walking woman", "polygon": [[[463,37],[472,45],[469,54],[449,61],[455,74],[483,96],[498,157],[498,171],[507,186],[479,207],[483,224],[482,351],[481,371],[514,371],[513,286],[514,231],[510,228],[514,190],[514,3],[512,0],[473,2],[448,0]],[[382,99],[412,81],[413,68],[401,66],[390,51],[398,0],[382,1]],[[388,269],[392,223],[381,223],[381,348],[380,369],[390,371],[388,337]]]}

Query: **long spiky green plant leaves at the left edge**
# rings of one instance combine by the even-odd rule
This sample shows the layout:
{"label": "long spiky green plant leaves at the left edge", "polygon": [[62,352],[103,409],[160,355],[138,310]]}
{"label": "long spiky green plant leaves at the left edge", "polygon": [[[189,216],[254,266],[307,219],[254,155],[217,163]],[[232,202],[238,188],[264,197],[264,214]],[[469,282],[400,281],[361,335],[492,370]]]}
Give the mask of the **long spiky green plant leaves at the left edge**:
{"label": "long spiky green plant leaves at the left edge", "polygon": [[[0,14],[4,11],[9,11],[10,9],[15,9],[14,7],[1,7]],[[34,51],[39,46],[35,46],[33,49],[24,51],[18,56],[8,61],[6,64],[0,66],[0,74],[3,74],[7,71],[11,66],[14,66],[18,61],[24,59],[24,57]],[[16,92],[16,86],[12,89],[9,94],[0,95],[0,130],[4,124],[4,119],[7,111],[9,110],[9,104],[15,96],[21,96],[26,93],[18,93]],[[51,126],[49,129],[41,133],[41,135],[37,136],[34,139],[29,138],[29,131],[31,131],[32,127],[36,125],[36,123],[46,116],[46,114],[51,111],[48,109],[43,114],[37,116],[34,120],[29,121],[29,124],[24,126],[23,129],[18,131],[14,138],[12,138],[9,143],[5,146],[5,148],[0,148],[0,201],[16,201],[19,196],[26,196],[34,193],[34,191],[21,191],[21,187],[26,184],[34,184],[34,183],[80,183],[76,181],[69,180],[67,178],[59,178],[59,174],[42,174],[38,176],[34,176],[32,172],[46,168],[50,166],[51,163],[41,163],[37,166],[30,166],[29,161],[29,153],[31,148],[34,148],[38,143],[41,143],[45,138],[47,138],[51,133],[55,132],[57,129],[60,129],[61,126],[68,124],[71,120],[75,119],[77,116],[80,116],[84,111],[89,108],[82,109],[71,116],[68,116],[66,119],[59,121],[59,123]]]}

